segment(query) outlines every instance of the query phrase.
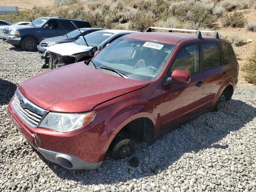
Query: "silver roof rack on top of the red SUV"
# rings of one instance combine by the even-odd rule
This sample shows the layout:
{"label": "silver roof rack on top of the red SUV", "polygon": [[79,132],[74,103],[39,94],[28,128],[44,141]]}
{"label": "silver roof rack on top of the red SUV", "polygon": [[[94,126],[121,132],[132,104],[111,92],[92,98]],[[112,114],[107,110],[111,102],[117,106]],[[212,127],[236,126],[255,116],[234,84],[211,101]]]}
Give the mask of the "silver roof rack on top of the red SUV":
{"label": "silver roof rack on top of the red SUV", "polygon": [[220,38],[218,32],[216,31],[202,31],[202,30],[192,30],[192,29],[176,29],[176,28],[164,28],[164,27],[149,27],[145,32],[152,32],[152,29],[162,29],[162,30],[168,30],[169,32],[172,31],[181,31],[181,32],[195,32],[196,38],[201,39],[202,34],[201,33],[214,33],[215,38]]}

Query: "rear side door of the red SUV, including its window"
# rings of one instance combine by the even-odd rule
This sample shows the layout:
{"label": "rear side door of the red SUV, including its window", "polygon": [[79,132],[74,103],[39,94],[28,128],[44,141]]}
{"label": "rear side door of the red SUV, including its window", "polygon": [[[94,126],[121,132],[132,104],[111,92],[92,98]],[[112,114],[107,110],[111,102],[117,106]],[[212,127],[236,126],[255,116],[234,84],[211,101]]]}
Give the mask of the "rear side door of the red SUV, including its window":
{"label": "rear side door of the red SUV, including its window", "polygon": [[202,47],[202,71],[204,76],[204,92],[202,95],[201,109],[212,107],[212,102],[220,90],[224,80],[222,56],[217,42],[201,43]]}

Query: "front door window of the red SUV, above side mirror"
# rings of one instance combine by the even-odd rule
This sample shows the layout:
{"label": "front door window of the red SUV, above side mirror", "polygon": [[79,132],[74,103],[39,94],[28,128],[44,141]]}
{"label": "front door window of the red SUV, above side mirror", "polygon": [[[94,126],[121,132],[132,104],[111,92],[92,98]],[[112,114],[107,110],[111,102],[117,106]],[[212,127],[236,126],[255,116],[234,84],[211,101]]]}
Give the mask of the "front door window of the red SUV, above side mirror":
{"label": "front door window of the red SUV, above side mirror", "polygon": [[187,45],[179,52],[171,72],[174,70],[187,71],[190,74],[199,72],[199,49],[198,44]]}

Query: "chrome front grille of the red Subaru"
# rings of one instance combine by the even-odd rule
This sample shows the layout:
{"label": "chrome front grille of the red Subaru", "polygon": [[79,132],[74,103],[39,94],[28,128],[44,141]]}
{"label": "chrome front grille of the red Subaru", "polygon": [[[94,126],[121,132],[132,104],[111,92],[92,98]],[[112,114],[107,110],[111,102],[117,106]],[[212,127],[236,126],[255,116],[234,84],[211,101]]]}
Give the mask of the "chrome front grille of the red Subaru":
{"label": "chrome front grille of the red Subaru", "polygon": [[27,100],[18,88],[14,94],[12,104],[20,118],[34,128],[38,126],[39,122],[48,112]]}

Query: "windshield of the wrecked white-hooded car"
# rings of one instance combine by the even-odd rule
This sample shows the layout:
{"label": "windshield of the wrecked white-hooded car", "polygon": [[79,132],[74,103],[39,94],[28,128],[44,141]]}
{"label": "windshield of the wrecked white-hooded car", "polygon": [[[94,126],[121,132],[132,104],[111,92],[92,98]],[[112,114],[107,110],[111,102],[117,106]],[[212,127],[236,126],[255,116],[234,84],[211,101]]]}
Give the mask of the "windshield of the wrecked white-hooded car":
{"label": "windshield of the wrecked white-hooded car", "polygon": [[[95,31],[95,32],[89,33],[85,35],[84,38],[86,39],[86,42],[88,43],[89,46],[95,47],[95,46],[99,46],[102,42],[104,42],[104,40],[106,40],[113,34],[114,33],[104,32],[104,30],[102,30],[102,31]],[[84,38],[79,38],[75,42],[77,44],[85,45]]]}

